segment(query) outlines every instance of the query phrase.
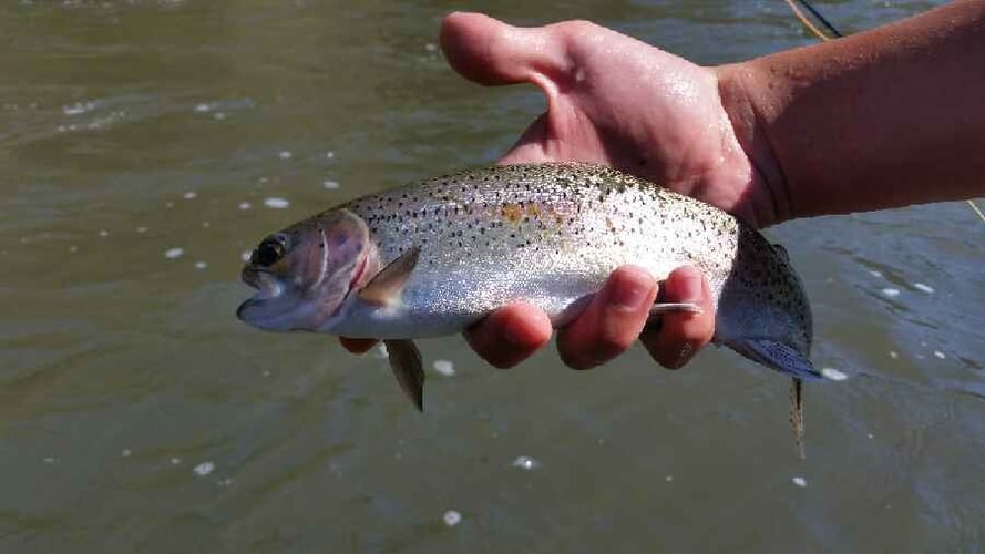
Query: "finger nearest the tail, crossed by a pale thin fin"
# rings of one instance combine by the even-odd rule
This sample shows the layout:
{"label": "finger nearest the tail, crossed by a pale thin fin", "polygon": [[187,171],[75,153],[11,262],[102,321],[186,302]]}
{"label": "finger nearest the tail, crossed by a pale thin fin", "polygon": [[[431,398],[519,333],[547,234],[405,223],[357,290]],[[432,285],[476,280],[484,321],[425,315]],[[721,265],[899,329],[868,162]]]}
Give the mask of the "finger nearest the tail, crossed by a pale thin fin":
{"label": "finger nearest the tail, crossed by a pale thin fin", "polygon": [[647,329],[639,337],[660,366],[677,369],[710,342],[715,335],[711,288],[700,271],[689,266],[680,267],[671,271],[664,281],[660,301],[694,302],[702,310],[701,314],[665,314],[660,316],[660,325],[656,326],[658,328]]}

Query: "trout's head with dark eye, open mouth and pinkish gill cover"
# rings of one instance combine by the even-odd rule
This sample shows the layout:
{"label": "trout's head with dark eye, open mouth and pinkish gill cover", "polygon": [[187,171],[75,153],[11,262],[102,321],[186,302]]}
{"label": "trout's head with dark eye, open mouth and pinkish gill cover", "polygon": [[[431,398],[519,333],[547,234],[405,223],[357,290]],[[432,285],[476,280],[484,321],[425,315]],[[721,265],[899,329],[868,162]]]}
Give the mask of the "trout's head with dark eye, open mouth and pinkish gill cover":
{"label": "trout's head with dark eye, open mouth and pinkish gill cover", "polygon": [[236,316],[264,330],[318,330],[377,265],[359,216],[346,209],[319,214],[264,238],[253,250],[242,277],[257,294]]}

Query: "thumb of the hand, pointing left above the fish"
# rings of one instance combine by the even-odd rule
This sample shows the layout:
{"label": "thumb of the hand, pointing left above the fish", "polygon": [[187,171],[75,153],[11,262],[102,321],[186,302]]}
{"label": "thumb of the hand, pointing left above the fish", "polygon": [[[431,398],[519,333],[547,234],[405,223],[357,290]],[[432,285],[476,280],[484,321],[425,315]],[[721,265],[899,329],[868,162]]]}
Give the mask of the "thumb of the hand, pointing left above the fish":
{"label": "thumb of the hand, pointing left above the fish", "polygon": [[485,85],[533,82],[544,88],[542,76],[563,70],[566,58],[547,28],[524,29],[464,12],[442,21],[441,50],[455,71]]}

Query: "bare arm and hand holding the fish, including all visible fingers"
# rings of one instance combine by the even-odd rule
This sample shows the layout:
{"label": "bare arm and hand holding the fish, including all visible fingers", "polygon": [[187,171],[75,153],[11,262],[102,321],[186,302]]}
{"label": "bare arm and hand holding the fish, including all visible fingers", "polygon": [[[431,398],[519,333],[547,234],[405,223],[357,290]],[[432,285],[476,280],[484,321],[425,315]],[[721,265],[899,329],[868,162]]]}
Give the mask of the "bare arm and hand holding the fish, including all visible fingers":
{"label": "bare arm and hand holding the fish, including all visible fingers", "polygon": [[[985,0],[954,2],[865,33],[736,64],[702,68],[608,29],[568,21],[511,27],[453,13],[449,63],[484,85],[533,83],[547,110],[502,163],[609,165],[726,209],[756,226],[982,194],[985,179]],[[694,301],[645,329],[649,306]],[[576,369],[638,338],[677,368],[714,335],[705,279],[663,283],[618,268],[557,348]],[[506,368],[551,338],[547,316],[514,304],[465,332]],[[343,339],[359,351],[372,341]]]}

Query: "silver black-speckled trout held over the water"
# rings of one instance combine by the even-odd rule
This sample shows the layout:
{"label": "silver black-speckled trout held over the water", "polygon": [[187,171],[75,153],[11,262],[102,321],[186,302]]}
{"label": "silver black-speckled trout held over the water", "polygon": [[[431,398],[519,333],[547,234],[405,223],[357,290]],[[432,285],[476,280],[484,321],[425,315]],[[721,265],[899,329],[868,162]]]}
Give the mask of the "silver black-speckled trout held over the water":
{"label": "silver black-speckled trout held over the water", "polygon": [[[656,279],[700,270],[716,307],[712,342],[793,378],[802,406],[801,380],[821,373],[786,250],[715,206],[592,164],[464,170],[316,214],[253,250],[242,277],[257,293],[237,316],[264,330],[383,340],[422,409],[413,339],[461,332],[516,301],[563,327],[625,264]],[[699,310],[657,304],[651,314]]]}

